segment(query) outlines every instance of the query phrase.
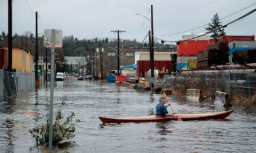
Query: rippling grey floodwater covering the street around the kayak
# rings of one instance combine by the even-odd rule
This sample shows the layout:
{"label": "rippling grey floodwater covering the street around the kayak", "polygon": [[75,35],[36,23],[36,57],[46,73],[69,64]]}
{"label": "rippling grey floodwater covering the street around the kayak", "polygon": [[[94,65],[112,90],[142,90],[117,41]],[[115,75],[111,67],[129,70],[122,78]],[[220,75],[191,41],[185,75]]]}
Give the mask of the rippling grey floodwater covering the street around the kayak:
{"label": "rippling grey floodwater covering the street around the kayak", "polygon": [[[0,152],[44,152],[28,132],[33,118],[46,114],[50,88],[19,94],[0,102]],[[114,84],[67,80],[55,86],[55,111],[64,101],[64,114],[74,112],[81,122],[70,140],[78,145],[55,152],[256,152],[256,112],[231,107],[225,120],[102,124],[98,116],[150,116],[161,95],[118,88]],[[169,96],[175,112],[203,114],[224,111],[213,102]]]}

